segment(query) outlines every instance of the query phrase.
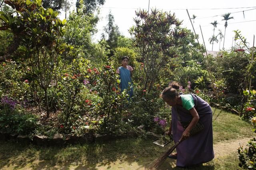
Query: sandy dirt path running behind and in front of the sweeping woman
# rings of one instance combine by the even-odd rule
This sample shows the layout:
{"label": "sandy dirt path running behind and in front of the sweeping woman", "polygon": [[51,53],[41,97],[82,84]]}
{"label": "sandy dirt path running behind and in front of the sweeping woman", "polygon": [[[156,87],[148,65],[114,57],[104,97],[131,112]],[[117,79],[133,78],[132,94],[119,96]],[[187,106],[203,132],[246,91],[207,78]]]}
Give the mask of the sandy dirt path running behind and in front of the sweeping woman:
{"label": "sandy dirt path running behind and in front of the sweeping woman", "polygon": [[[235,152],[236,149],[239,147],[239,143],[241,146],[246,147],[247,142],[251,138],[242,138],[237,139],[233,141],[226,141],[221,143],[216,143],[214,145],[214,153],[215,158],[218,159],[222,156],[226,156],[232,152]],[[98,164],[88,164],[88,162],[83,162],[78,165],[58,165],[58,166],[51,166],[47,162],[38,162],[34,161],[30,164],[27,164],[25,167],[17,167],[15,165],[8,165],[5,166],[4,170],[10,170],[10,169],[26,169],[26,170],[50,170],[50,169],[69,169],[69,170],[144,170],[145,166],[148,164],[148,162],[151,162],[153,158],[138,158],[137,161],[134,159],[125,159],[124,160],[116,160],[115,162],[101,162]],[[176,160],[174,159],[166,159],[164,164],[162,164],[160,169],[166,170],[170,169],[170,167],[174,168],[176,166]]]}

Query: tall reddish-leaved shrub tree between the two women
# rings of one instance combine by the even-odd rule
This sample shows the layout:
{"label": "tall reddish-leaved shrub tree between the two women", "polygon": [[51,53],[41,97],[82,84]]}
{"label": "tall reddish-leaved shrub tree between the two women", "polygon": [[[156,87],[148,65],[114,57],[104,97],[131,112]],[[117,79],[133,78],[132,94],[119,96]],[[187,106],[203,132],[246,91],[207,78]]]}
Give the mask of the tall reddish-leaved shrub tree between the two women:
{"label": "tall reddish-leaved shrub tree between the two women", "polygon": [[186,33],[179,29],[181,22],[174,14],[151,10],[136,11],[135,24],[130,28],[134,50],[138,53],[138,61],[143,63],[144,89],[151,91],[159,74],[168,60],[176,56],[178,40]]}

